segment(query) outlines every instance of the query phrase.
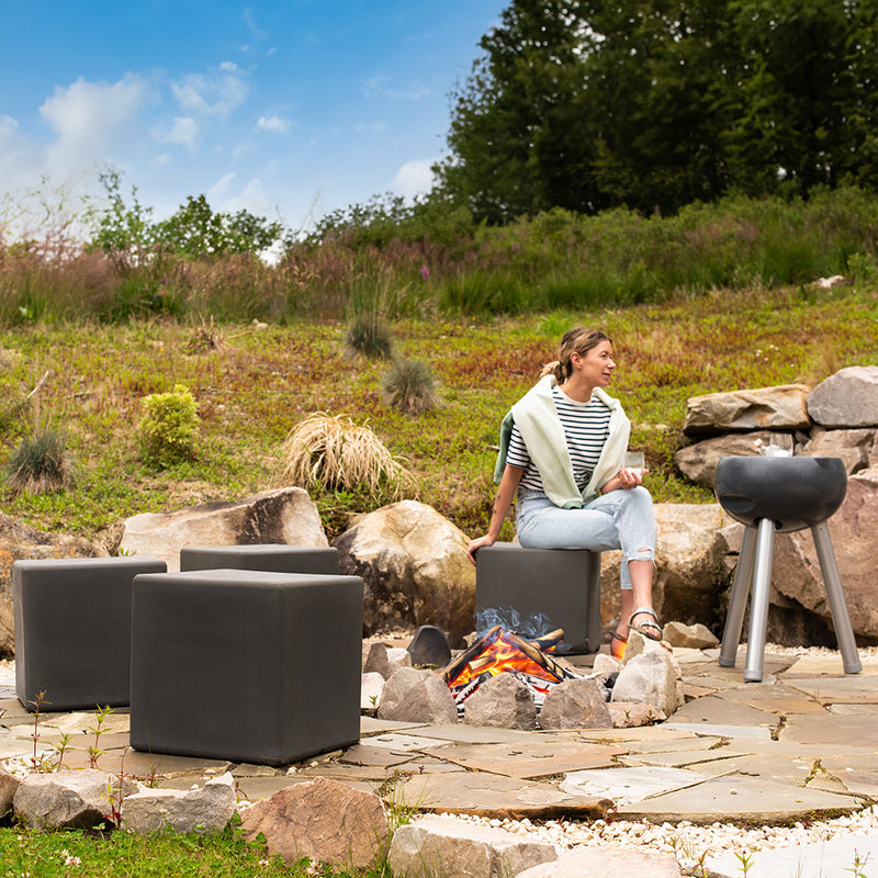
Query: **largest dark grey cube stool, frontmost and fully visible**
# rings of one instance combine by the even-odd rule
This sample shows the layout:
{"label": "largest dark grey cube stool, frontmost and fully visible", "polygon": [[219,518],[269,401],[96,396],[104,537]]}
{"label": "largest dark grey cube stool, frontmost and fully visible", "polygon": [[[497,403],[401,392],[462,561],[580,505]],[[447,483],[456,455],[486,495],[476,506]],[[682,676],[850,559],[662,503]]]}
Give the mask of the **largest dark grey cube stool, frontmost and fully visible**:
{"label": "largest dark grey cube stool, frontmost and fully visible", "polygon": [[284,765],[354,743],[362,632],[359,576],[137,576],[131,744]]}

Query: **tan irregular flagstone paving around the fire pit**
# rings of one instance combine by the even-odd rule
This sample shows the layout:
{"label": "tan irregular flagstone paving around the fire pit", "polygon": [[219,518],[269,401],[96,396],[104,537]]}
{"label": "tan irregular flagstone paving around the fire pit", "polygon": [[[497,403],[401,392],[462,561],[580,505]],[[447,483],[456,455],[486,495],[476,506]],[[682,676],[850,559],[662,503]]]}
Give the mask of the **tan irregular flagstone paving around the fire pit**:
{"label": "tan irregular flagstone paving around the fire pit", "polygon": [[0,679],[0,759],[57,755],[69,735],[65,765],[88,766],[92,746],[103,751],[100,767],[155,775],[162,786],[188,788],[230,769],[255,800],[322,775],[421,811],[511,819],[612,809],[653,822],[787,823],[878,801],[878,658],[846,676],[837,653],[769,651],[764,680],[748,684],[744,649],[734,668],[719,666],[717,650],[676,650],[688,701],[660,725],[521,732],[363,717],[359,743],[286,769],[135,753],[124,709],[98,742],[94,714],[41,713],[35,745],[33,714]]}

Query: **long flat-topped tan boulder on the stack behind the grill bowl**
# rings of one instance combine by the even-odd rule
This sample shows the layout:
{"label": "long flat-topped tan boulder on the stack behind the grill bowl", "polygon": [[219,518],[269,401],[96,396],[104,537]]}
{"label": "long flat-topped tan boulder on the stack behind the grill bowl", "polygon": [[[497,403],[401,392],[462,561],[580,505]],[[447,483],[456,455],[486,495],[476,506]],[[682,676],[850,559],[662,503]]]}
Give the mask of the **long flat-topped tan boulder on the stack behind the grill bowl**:
{"label": "long flat-topped tan boulder on the stack behind the grill bowl", "polygon": [[687,436],[750,430],[800,430],[811,426],[804,384],[707,393],[689,398]]}

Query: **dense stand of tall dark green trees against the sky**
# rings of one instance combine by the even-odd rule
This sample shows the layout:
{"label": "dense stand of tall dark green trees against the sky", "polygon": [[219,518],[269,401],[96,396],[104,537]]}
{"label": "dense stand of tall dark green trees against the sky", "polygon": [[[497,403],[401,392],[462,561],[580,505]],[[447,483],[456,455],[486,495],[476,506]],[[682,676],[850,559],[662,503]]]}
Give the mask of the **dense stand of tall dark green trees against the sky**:
{"label": "dense stand of tall dark green trees against the sky", "polygon": [[452,95],[441,187],[494,223],[876,188],[877,42],[866,0],[513,0]]}

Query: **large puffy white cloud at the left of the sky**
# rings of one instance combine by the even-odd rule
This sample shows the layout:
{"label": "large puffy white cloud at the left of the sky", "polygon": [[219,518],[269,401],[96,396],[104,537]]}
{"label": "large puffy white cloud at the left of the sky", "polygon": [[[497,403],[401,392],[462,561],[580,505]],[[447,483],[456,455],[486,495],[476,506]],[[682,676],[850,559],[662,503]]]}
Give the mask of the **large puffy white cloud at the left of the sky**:
{"label": "large puffy white cloud at the left of the sky", "polygon": [[119,82],[89,82],[79,78],[40,108],[40,113],[57,132],[49,149],[49,162],[60,172],[105,160],[110,145],[130,134],[130,123],[146,98],[144,80],[127,74]]}

